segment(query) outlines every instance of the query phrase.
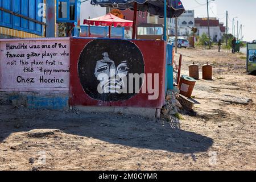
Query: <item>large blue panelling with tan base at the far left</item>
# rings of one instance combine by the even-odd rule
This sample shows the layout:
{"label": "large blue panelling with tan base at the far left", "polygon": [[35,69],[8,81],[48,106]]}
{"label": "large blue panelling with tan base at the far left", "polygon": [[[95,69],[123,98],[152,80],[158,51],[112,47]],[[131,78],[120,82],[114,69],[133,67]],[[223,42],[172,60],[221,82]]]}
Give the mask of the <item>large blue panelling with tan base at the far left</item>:
{"label": "large blue panelling with tan base at the far left", "polygon": [[43,0],[0,0],[0,38],[44,36]]}

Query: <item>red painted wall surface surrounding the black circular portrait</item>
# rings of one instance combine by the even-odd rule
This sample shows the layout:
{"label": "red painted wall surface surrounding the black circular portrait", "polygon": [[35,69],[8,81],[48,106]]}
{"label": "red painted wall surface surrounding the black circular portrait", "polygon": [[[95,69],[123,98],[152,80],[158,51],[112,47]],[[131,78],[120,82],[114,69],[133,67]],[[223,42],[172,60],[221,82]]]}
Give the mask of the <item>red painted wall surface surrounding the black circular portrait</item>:
{"label": "red painted wall surface surrounding the black circular portrait", "polygon": [[[82,88],[79,79],[78,62],[82,49],[92,38],[71,39],[70,58],[70,96],[69,105],[82,106],[131,106],[131,107],[152,107],[161,108],[164,104],[164,83],[165,83],[165,57],[166,44],[163,41],[155,40],[131,40],[142,52],[144,59],[144,73],[159,73],[159,97],[157,100],[148,100],[148,93],[138,93],[125,101],[101,101],[89,97]],[[108,39],[105,39],[108,40]],[[154,79],[153,79],[154,80]],[[145,82],[143,83],[145,84]]]}

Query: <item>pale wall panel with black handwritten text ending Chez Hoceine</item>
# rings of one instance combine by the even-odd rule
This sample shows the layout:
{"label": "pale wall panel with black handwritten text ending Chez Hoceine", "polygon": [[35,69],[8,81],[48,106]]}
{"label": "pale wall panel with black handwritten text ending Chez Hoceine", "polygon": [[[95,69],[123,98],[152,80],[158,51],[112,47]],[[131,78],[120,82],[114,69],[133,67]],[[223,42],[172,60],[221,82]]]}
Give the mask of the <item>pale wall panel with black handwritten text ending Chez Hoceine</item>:
{"label": "pale wall panel with black handwritten text ending Chez Hoceine", "polygon": [[68,90],[69,38],[0,40],[0,90]]}

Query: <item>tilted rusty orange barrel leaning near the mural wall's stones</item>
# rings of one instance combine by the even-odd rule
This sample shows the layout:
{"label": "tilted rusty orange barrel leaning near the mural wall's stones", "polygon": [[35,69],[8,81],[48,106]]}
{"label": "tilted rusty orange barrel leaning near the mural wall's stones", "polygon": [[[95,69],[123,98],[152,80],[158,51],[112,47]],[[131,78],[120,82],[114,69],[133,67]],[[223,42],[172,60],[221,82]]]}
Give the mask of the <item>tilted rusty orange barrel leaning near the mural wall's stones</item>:
{"label": "tilted rusty orange barrel leaning near the mural wall's stones", "polygon": [[183,75],[180,77],[179,89],[180,94],[185,97],[191,97],[196,80],[190,76]]}

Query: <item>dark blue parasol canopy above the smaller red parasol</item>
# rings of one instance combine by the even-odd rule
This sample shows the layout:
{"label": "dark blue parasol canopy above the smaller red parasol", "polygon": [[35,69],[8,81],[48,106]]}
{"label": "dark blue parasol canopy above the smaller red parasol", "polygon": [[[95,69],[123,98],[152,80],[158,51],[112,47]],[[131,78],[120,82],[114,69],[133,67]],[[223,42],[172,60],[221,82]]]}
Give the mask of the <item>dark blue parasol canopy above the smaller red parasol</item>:
{"label": "dark blue parasol canopy above the smaller red parasol", "polygon": [[[147,11],[152,15],[164,16],[164,0],[92,0],[92,5],[112,7],[119,10],[133,10],[134,2],[137,2],[137,10]],[[167,18],[179,17],[185,11],[180,0],[167,0]]]}

